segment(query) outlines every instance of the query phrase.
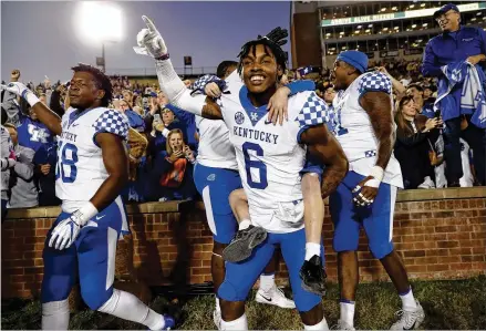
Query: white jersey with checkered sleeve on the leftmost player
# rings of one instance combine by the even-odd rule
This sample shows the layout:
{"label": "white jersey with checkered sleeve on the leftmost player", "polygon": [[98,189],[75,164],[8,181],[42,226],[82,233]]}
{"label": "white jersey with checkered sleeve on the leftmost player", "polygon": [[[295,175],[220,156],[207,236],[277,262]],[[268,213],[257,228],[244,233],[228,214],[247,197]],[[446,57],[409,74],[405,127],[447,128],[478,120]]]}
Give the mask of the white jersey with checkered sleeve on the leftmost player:
{"label": "white jersey with checkered sleeve on the leftmost player", "polygon": [[58,139],[55,195],[62,209],[73,213],[89,201],[108,177],[95,136],[107,132],[126,139],[128,122],[115,110],[97,107],[82,113],[69,108]]}

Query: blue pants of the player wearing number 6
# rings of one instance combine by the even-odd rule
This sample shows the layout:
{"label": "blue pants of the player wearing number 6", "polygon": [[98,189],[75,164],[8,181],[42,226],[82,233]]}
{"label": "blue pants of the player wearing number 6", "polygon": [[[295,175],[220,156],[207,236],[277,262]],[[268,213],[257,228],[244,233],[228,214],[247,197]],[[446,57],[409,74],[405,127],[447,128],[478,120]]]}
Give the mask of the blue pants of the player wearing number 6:
{"label": "blue pants of the player wearing number 6", "polygon": [[290,286],[297,309],[300,312],[306,312],[319,304],[321,297],[302,289],[299,277],[306,257],[304,229],[289,234],[268,234],[266,241],[254,249],[249,259],[240,263],[226,262],[226,277],[218,289],[218,297],[227,301],[245,301],[278,245],[289,270]]}

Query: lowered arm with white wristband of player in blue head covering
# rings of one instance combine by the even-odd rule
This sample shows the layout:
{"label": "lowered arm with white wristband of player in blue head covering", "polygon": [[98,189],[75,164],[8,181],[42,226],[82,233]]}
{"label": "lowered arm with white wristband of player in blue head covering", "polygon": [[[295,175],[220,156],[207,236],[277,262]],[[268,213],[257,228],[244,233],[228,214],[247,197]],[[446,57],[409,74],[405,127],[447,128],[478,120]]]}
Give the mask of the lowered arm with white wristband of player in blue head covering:
{"label": "lowered arm with white wristband of player in blue head covering", "polygon": [[[358,184],[354,192],[360,192],[354,198],[358,205],[364,206],[374,201],[378,195],[383,172],[389,165],[394,145],[392,103],[385,92],[366,92],[360,104],[370,116],[374,134],[378,138],[378,158],[372,174]],[[376,182],[376,183],[375,183]]]}

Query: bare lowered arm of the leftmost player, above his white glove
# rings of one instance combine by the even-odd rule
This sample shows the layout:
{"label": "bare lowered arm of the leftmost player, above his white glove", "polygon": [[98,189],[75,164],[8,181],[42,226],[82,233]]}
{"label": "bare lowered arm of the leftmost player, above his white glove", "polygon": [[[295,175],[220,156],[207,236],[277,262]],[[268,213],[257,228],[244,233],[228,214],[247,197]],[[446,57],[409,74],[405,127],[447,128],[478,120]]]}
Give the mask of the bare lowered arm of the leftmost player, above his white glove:
{"label": "bare lowered arm of the leftmost player, above his white glove", "polygon": [[90,201],[97,210],[102,210],[112,204],[125,187],[128,180],[128,161],[120,136],[112,133],[99,133],[95,141],[101,147],[103,164],[108,177]]}

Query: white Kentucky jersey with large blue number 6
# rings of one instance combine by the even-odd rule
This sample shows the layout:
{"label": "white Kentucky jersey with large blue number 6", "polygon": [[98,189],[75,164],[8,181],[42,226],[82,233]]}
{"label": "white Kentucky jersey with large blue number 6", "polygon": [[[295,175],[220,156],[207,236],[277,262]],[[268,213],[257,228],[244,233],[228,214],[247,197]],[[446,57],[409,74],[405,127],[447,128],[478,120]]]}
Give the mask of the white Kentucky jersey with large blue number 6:
{"label": "white Kentucky jersey with large blue number 6", "polygon": [[303,227],[301,175],[306,146],[300,134],[323,123],[323,104],[314,92],[289,97],[289,121],[267,121],[267,105],[255,107],[246,86],[229,86],[221,111],[236,149],[251,221],[269,232],[291,232]]}

